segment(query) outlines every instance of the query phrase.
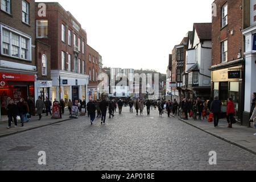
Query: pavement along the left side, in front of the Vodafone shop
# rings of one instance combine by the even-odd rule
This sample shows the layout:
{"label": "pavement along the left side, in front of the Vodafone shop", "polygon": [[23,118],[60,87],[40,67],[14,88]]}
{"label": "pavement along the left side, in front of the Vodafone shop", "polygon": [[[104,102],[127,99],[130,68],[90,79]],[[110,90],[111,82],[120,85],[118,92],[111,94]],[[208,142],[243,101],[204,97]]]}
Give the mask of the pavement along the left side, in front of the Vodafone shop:
{"label": "pavement along the left side, in front of the Vodafone shop", "polygon": [[21,127],[21,123],[18,122],[18,127],[14,127],[14,122],[11,124],[11,128],[7,129],[8,118],[6,115],[2,116],[2,121],[0,123],[0,137],[6,137],[8,135],[13,135],[16,133],[22,133],[24,131],[37,129],[39,127],[44,127],[48,125],[53,125],[55,123],[64,122],[69,120],[69,111],[66,109],[61,119],[51,119],[51,115],[46,116],[42,114],[42,119],[39,121],[39,116],[32,116],[31,121],[25,122],[24,126]]}

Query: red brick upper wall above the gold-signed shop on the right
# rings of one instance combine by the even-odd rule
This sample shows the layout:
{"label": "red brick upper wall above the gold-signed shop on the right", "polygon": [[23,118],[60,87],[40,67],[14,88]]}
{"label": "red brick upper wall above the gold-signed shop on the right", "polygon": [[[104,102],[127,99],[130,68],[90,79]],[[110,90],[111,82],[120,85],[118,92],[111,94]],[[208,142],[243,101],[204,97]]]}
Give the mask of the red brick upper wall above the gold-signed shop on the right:
{"label": "red brick upper wall above the gold-signed shop on the right", "polygon": [[[237,60],[243,52],[243,10],[242,0],[216,0],[217,16],[212,18],[212,65],[221,63],[221,41],[228,39],[228,61]],[[221,28],[221,7],[228,3],[228,25]],[[234,35],[230,32],[234,30]],[[230,32],[229,32],[230,31]]]}

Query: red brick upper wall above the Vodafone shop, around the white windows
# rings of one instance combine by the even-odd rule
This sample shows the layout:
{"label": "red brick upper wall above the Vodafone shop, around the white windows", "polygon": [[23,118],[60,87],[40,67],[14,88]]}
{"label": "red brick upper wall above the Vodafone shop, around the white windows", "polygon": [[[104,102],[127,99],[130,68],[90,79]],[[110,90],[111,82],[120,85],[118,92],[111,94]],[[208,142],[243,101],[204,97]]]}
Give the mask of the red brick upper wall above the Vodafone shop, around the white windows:
{"label": "red brick upper wall above the Vodafone shop, around the white windows", "polygon": [[[0,10],[0,22],[6,24],[7,26],[13,27],[18,31],[23,32],[31,36],[31,44],[35,45],[35,1],[27,1],[30,7],[30,24],[22,22],[22,0],[11,1],[11,15]],[[32,61],[25,61],[14,57],[8,57],[0,55],[0,59],[12,61],[15,63],[22,63],[28,65],[35,65],[35,48],[31,48]]]}

